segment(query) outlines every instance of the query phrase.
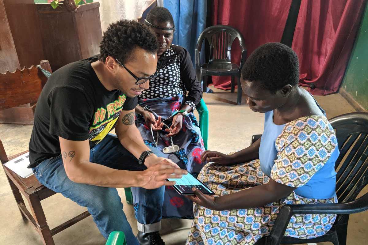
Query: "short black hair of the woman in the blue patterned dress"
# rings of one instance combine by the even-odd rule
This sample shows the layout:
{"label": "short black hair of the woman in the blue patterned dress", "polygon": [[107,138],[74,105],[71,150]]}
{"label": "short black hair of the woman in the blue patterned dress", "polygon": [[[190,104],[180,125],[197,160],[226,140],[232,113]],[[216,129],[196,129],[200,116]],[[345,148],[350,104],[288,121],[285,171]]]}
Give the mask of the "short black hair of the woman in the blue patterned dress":
{"label": "short black hair of the woman in the blue patterned dress", "polygon": [[260,83],[263,89],[275,94],[286,84],[298,84],[298,56],[282,43],[266,43],[245,61],[241,75],[243,80]]}

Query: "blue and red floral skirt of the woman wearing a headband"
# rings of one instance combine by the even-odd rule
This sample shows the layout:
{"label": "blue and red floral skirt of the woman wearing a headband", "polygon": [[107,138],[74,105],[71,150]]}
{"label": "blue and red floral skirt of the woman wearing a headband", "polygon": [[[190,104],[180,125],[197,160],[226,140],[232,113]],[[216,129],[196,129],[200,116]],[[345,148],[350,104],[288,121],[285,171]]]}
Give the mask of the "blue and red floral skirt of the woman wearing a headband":
{"label": "blue and red floral skirt of the woman wearing a headband", "polygon": [[[183,101],[183,96],[174,96],[140,100],[139,105],[142,107],[148,106],[162,118],[168,118],[176,109],[181,108]],[[170,127],[172,122],[167,120],[165,123]],[[144,143],[151,147],[156,147],[153,143],[157,140],[156,132],[154,134],[155,138],[152,138],[151,130],[145,124],[143,116],[137,114],[136,125]],[[162,152],[164,147],[171,145],[170,138],[166,138],[166,134],[167,132],[164,130],[160,131],[158,146],[156,147],[160,152]],[[197,176],[204,166],[204,162],[201,162],[201,154],[205,151],[205,147],[197,118],[195,118],[192,112],[184,117],[183,126],[180,132],[173,137],[173,143],[178,145],[179,151],[171,154],[162,153],[162,156],[171,159],[181,169],[186,169],[194,176]],[[133,187],[132,193],[135,215],[137,216],[138,209],[144,205],[144,200],[139,199],[138,188]],[[193,202],[178,194],[173,187],[167,186],[162,206],[162,217],[193,219]]]}

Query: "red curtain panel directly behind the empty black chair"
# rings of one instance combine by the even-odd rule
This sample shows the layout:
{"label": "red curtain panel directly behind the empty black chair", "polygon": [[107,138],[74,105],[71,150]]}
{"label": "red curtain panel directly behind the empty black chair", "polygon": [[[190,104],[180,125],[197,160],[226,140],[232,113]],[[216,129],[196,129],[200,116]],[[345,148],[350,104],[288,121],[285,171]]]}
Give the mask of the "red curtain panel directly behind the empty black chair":
{"label": "red curtain panel directly behind the empty black chair", "polygon": [[[240,30],[245,39],[248,56],[260,45],[280,42],[291,0],[215,0],[212,2],[212,25],[229,25]],[[240,63],[237,40],[231,47],[231,62]],[[219,89],[230,89],[230,77],[212,76]]]}

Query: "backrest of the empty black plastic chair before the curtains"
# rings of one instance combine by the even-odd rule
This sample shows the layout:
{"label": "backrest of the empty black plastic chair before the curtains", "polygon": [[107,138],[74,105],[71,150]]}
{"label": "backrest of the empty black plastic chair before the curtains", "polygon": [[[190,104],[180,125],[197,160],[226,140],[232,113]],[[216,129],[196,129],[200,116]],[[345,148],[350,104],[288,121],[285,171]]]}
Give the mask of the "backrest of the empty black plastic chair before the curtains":
{"label": "backrest of the empty black plastic chair before the curtains", "polygon": [[242,51],[246,50],[244,37],[237,29],[227,25],[210,26],[198,37],[197,49],[201,50],[202,43],[207,39],[210,47],[209,62],[231,62],[231,45],[238,38]]}

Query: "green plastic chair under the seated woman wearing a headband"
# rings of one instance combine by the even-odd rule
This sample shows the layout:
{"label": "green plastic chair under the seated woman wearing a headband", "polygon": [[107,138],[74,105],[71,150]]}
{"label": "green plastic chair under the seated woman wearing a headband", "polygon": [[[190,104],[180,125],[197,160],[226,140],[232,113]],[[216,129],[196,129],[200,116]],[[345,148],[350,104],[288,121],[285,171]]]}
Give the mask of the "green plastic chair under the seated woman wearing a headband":
{"label": "green plastic chair under the seated woman wearing a headband", "polygon": [[[207,149],[208,143],[208,109],[206,103],[203,99],[197,105],[197,111],[199,114],[199,129],[201,130],[203,144],[205,149]],[[125,198],[127,199],[128,204],[133,204],[133,194],[130,187],[124,188]]]}

